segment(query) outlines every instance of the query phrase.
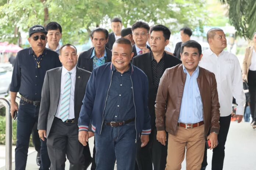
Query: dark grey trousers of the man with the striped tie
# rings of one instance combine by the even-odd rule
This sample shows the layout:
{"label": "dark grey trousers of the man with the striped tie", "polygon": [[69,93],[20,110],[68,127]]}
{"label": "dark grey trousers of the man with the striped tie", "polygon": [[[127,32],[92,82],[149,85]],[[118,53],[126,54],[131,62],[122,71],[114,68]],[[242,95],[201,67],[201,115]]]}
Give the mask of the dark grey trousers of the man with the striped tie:
{"label": "dark grey trousers of the man with the striped tie", "polygon": [[65,123],[54,118],[47,138],[51,170],[64,170],[66,155],[70,170],[83,170],[83,145],[78,140],[77,123]]}

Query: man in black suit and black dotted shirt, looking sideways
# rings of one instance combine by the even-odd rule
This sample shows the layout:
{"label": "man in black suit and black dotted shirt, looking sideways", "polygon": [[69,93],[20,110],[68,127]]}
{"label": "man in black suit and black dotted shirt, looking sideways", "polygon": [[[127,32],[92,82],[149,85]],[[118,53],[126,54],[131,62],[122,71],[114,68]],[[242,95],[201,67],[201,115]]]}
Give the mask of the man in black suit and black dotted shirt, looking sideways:
{"label": "man in black suit and black dotted shirt, looking sideways", "polygon": [[[167,54],[164,47],[169,44],[171,32],[163,25],[156,25],[150,30],[149,44],[151,52],[136,56],[132,64],[139,67],[147,75],[149,82],[149,112],[151,117],[152,133],[149,135],[149,144],[145,147],[137,147],[136,161],[139,170],[164,170],[166,166],[167,144],[162,145],[156,140],[156,115],[155,101],[159,81],[167,68],[181,63],[178,58]],[[168,136],[168,135],[167,135]]]}

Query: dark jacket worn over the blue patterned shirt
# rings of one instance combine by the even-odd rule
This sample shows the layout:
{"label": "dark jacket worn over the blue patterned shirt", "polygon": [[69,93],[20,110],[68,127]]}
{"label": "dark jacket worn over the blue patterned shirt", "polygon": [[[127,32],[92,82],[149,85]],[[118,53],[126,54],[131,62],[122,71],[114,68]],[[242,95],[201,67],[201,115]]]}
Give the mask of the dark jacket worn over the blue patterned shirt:
{"label": "dark jacket worn over the blue patterned shirt", "polygon": [[[94,47],[88,49],[88,51],[84,51],[79,55],[78,62],[77,62],[77,67],[87,70],[92,72],[93,70],[93,59],[91,58],[92,52],[93,52]],[[105,63],[111,62],[112,58],[112,52],[110,49],[106,48],[106,53],[107,53],[107,59],[105,60]]]}

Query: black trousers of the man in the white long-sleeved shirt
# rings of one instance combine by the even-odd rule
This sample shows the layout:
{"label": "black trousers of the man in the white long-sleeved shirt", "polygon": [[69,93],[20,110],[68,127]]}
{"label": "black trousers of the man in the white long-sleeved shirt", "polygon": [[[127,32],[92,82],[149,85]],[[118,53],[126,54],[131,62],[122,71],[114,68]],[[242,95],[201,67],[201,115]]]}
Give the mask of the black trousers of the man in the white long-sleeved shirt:
{"label": "black trousers of the man in the white long-sleeved shirt", "polygon": [[[218,134],[218,145],[213,149],[213,158],[211,160],[212,170],[222,170],[225,157],[225,143],[230,127],[231,114],[226,117],[220,117],[220,131]],[[209,133],[210,134],[210,130]],[[203,157],[202,167],[207,166],[207,147],[205,146],[205,155]]]}

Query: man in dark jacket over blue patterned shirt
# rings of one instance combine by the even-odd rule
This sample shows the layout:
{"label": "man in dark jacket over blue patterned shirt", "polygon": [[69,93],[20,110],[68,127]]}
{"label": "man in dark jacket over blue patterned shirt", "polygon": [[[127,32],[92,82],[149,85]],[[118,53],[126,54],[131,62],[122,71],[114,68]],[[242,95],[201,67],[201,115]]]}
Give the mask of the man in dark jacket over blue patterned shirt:
{"label": "man in dark jacket over blue patterned shirt", "polygon": [[112,52],[106,48],[109,32],[103,28],[92,30],[90,38],[93,47],[79,55],[77,67],[92,72],[92,70],[104,63],[111,62]]}

